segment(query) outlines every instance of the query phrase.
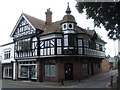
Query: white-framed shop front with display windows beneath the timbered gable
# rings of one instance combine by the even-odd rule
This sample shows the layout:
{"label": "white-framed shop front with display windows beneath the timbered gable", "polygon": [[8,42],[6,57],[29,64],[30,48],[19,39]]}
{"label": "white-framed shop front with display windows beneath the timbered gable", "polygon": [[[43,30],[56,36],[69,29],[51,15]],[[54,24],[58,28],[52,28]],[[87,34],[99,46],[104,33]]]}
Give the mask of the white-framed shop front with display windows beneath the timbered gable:
{"label": "white-framed shop front with display windows beneath the timbered gable", "polygon": [[18,62],[18,79],[37,80],[36,61],[19,61]]}

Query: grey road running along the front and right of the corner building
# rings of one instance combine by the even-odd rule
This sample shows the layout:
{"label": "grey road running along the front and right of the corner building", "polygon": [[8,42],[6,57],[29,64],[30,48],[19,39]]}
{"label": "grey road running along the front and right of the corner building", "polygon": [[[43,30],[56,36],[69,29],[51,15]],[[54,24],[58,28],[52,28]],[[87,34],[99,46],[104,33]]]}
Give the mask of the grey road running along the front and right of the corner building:
{"label": "grey road running along the front and right of the corner building", "polygon": [[[78,82],[65,82],[64,86],[59,86],[58,83],[46,83],[46,82],[32,82],[23,83],[21,81],[3,81],[2,88],[106,88],[110,82],[110,77],[113,75],[113,79],[117,77],[117,70],[111,70],[107,73],[100,73]],[[1,85],[1,84],[0,84]]]}

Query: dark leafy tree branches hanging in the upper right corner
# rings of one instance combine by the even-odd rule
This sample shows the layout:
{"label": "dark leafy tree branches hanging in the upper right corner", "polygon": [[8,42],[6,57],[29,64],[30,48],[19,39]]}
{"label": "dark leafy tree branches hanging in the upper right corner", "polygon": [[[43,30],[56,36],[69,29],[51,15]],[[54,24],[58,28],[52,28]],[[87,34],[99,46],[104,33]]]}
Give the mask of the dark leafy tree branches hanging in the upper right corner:
{"label": "dark leafy tree branches hanging in the upper right corner", "polygon": [[86,13],[87,19],[94,20],[94,26],[108,31],[110,39],[120,38],[120,2],[78,2],[76,8]]}

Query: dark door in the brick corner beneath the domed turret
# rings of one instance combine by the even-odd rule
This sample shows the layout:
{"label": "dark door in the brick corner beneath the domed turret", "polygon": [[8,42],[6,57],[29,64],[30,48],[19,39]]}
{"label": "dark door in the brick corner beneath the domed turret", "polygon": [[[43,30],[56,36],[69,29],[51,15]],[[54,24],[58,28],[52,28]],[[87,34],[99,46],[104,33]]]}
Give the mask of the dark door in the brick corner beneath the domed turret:
{"label": "dark door in the brick corner beneath the domed turret", "polygon": [[73,80],[73,64],[65,64],[65,80]]}

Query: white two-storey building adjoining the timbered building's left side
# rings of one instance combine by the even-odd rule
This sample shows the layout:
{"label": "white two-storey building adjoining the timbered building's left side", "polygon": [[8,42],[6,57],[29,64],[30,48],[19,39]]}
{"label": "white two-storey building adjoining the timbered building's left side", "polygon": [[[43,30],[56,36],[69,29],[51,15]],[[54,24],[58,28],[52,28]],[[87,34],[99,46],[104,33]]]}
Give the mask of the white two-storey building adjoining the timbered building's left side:
{"label": "white two-storey building adjoining the timbered building's left side", "polygon": [[2,64],[2,78],[16,79],[16,63],[14,59],[14,43],[8,43],[0,46],[0,57]]}

